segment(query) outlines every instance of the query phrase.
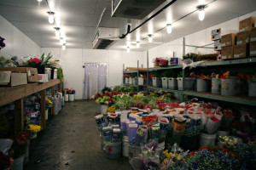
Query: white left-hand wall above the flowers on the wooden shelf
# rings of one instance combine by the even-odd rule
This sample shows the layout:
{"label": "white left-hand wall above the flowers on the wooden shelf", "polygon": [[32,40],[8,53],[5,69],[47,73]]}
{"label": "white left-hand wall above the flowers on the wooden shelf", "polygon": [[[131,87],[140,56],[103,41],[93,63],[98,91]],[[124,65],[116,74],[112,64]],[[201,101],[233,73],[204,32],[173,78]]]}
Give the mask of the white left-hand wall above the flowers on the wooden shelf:
{"label": "white left-hand wall above the flowers on the wooden shelf", "polygon": [[9,57],[10,55],[16,55],[19,58],[25,57],[29,54],[39,55],[41,54],[41,48],[33,42],[29,37],[26,37],[24,33],[18,30],[15,26],[9,23],[0,15],[0,36],[5,38],[5,48],[0,51],[0,56]]}

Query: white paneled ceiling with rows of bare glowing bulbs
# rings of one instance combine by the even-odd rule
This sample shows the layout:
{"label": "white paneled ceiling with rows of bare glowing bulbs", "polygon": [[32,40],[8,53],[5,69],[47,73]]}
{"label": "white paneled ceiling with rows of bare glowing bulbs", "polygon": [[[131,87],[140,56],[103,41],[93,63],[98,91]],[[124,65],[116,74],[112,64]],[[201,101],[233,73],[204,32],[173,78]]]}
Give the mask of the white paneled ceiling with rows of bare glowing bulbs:
{"label": "white paneled ceiling with rows of bare glowing bulbs", "polygon": [[[212,0],[205,1],[206,3],[212,2]],[[61,18],[61,29],[65,31],[67,37],[67,48],[92,48],[92,40],[96,34],[96,26],[103,8],[107,8],[107,10],[102,17],[100,27],[119,28],[120,34],[122,34],[126,32],[128,23],[131,23],[132,30],[143,22],[143,20],[112,18],[111,0],[48,0],[48,2],[50,8]],[[167,1],[163,3],[148,16],[167,3]],[[256,11],[256,0],[217,0],[206,8],[205,20],[198,20],[198,12],[179,20],[184,15],[195,11],[198,4],[198,0],[177,0],[153,20],[131,33],[131,41],[135,42],[137,33],[139,33],[142,42],[141,48],[135,48],[133,45],[131,50],[143,51],[154,48],[161,43],[170,42],[195,31],[201,31]],[[55,26],[48,23],[49,6],[45,0],[41,3],[38,3],[37,0],[0,0],[0,14],[40,47],[60,48],[61,43],[55,37]],[[172,22],[178,20],[173,24],[172,34],[167,34],[166,29],[158,31],[166,26],[168,15],[172,16]],[[148,28],[151,28],[154,33],[152,43],[148,43],[148,39],[145,39],[148,35]],[[110,49],[125,50],[125,44],[125,40],[119,40]]]}

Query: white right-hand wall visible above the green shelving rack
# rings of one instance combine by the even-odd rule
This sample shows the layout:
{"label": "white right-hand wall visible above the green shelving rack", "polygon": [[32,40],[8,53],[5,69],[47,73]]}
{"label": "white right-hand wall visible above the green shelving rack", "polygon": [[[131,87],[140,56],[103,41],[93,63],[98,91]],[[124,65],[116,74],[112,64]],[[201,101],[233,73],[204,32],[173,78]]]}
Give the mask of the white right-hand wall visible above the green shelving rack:
{"label": "white right-hand wall visible above the green shelving rack", "polygon": [[[210,43],[213,43],[212,41],[212,35],[211,31],[218,28],[223,28],[227,30],[239,30],[239,20],[244,20],[250,16],[256,16],[256,11],[242,15],[240,17],[237,17],[233,20],[228,20],[226,22],[223,22],[221,24],[218,24],[216,26],[209,27],[202,31],[197,31],[193,34],[190,34],[185,37],[186,44],[188,45],[196,45],[196,46],[202,46],[207,45]],[[206,19],[207,20],[207,19]],[[175,32],[172,32],[172,34],[175,34]],[[213,45],[208,46],[213,47]],[[165,44],[162,44],[160,46],[157,46],[155,48],[151,48],[148,50],[148,66],[154,67],[154,63],[152,62],[152,59],[156,57],[172,57],[173,51],[177,53],[176,57],[182,58],[183,57],[183,38],[178,38],[176,40],[173,40],[172,42],[167,42]],[[201,53],[201,54],[212,54],[214,51],[212,49],[206,49],[206,48],[189,48],[186,47],[186,54],[188,53]],[[143,52],[143,65],[147,65],[147,51]]]}

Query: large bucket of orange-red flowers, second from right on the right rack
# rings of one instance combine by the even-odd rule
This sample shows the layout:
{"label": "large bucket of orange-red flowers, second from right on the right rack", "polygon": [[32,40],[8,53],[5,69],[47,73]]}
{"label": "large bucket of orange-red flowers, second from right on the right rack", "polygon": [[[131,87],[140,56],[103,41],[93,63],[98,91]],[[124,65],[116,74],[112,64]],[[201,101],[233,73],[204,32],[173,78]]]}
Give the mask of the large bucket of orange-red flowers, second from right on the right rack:
{"label": "large bucket of orange-red flowers, second from right on the right rack", "polygon": [[221,95],[236,95],[236,77],[221,79]]}

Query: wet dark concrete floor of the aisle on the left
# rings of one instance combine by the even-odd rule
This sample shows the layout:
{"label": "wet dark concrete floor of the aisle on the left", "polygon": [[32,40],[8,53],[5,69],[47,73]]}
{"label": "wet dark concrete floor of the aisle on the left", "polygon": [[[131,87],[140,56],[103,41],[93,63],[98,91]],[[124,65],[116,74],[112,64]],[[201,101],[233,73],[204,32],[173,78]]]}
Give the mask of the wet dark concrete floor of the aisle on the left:
{"label": "wet dark concrete floor of the aisle on the left", "polygon": [[99,111],[95,101],[66,102],[57,116],[49,116],[45,131],[31,140],[30,160],[24,169],[131,170],[128,158],[109,160],[101,150],[94,118]]}

